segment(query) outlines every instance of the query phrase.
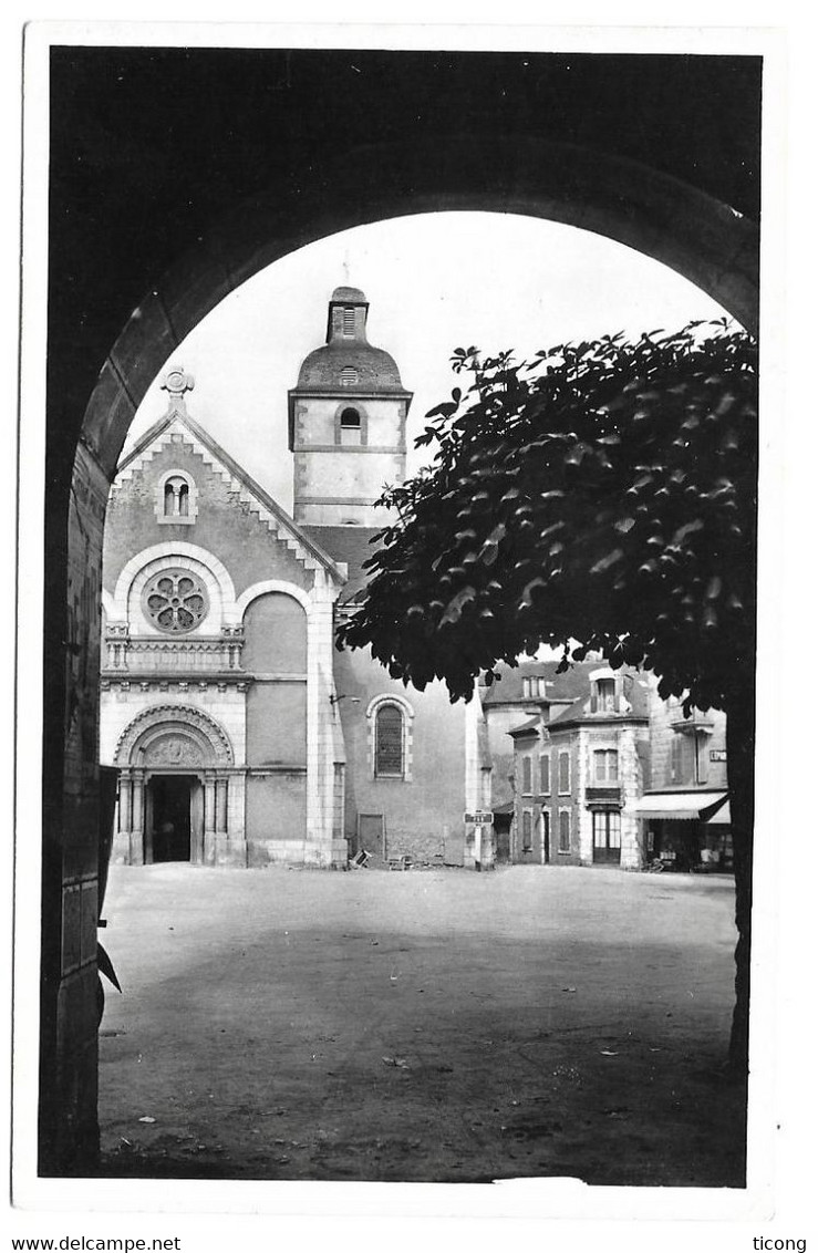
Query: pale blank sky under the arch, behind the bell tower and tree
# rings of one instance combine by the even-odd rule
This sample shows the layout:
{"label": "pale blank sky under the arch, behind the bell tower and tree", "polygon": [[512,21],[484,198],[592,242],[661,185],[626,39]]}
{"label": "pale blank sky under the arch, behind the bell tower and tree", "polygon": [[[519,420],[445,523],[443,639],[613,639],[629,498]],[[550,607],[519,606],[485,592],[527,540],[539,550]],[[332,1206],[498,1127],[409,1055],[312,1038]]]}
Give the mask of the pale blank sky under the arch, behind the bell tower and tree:
{"label": "pale blank sky under the arch, behind the bell tower and tree", "polygon": [[[433,213],[329,236],[291,253],[228,296],[168,358],[194,376],[188,412],[287,510],[292,455],[287,390],[324,342],[334,287],[370,301],[368,338],[396,360],[415,393],[408,472],[428,461],[413,439],[447,400],[456,347],[520,356],[569,340],[678,330],[723,316],[698,287],[611,239],[537,218]],[[125,452],[167,408],[159,377],[132,424]]]}

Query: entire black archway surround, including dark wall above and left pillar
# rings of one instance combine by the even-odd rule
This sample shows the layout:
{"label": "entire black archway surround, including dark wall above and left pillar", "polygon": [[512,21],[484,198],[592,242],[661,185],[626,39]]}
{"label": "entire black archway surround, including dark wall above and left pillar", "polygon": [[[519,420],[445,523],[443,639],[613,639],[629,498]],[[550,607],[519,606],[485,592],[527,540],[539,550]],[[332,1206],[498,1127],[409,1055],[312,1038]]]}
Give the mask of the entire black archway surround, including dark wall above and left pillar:
{"label": "entire black archway surround, including dark wall above and left pillar", "polygon": [[[386,96],[396,56],[406,90]],[[93,885],[98,870],[108,485],[139,402],[182,340],[307,243],[457,209],[608,236],[755,328],[760,60],[355,53],[352,69],[351,60],[242,49],[61,49],[53,59],[44,1174],[93,1167],[98,1143],[95,967],[90,957],[66,970],[61,945],[66,893]],[[332,99],[343,89],[343,117],[327,112],[317,81]],[[450,118],[463,120],[461,133],[440,134]]]}

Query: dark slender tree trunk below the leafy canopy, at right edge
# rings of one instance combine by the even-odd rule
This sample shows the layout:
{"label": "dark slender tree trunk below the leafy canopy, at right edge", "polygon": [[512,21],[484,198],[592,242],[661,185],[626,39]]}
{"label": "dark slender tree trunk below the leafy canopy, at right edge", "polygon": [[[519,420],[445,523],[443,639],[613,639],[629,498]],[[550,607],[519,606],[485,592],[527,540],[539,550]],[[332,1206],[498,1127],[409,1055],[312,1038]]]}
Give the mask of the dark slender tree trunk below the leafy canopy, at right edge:
{"label": "dark slender tree trunk below the leafy canopy, at right edge", "polygon": [[750,927],[753,906],[753,821],[755,692],[754,674],[747,677],[727,710],[728,772],[730,819],[733,828],[733,866],[735,875],[735,1006],[728,1055],[729,1069],[745,1079],[748,1074],[750,1014]]}

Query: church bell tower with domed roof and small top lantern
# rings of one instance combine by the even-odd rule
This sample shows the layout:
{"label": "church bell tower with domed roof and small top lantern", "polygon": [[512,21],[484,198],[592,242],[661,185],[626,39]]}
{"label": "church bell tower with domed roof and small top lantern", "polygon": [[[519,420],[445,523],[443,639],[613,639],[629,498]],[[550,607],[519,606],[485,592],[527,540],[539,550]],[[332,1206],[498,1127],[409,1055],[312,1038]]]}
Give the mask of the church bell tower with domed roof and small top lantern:
{"label": "church bell tower with domed roof and small top lantern", "polygon": [[368,312],[357,287],[336,287],[327,342],[304,358],[288,392],[293,517],[304,525],[382,526],[388,514],[375,501],[406,477],[412,393],[390,353],[367,340]]}

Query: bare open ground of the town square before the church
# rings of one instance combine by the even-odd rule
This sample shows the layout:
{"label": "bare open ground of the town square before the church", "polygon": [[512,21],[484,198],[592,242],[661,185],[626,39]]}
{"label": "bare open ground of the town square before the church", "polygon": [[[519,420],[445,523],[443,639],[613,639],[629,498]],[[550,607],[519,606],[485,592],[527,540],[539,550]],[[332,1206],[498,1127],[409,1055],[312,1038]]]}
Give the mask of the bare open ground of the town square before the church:
{"label": "bare open ground of the town square before the church", "polygon": [[109,1177],[743,1187],[733,883],[115,866]]}

